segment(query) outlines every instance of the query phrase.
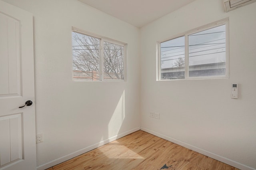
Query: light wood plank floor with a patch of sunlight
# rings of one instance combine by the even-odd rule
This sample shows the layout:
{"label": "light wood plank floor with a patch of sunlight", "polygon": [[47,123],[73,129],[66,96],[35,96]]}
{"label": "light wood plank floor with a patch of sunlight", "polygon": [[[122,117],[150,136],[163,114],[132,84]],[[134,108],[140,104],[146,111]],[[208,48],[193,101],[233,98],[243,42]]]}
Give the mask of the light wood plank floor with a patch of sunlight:
{"label": "light wood plank floor with a patch of sunlight", "polygon": [[47,170],[238,170],[139,130]]}

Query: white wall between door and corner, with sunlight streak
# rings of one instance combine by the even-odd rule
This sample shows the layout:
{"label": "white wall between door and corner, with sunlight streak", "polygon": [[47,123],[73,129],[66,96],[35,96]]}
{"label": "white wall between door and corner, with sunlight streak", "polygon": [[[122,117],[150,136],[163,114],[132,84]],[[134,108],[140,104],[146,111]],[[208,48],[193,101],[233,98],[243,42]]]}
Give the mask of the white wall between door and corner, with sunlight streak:
{"label": "white wall between door and corner, with sunlight streak", "polygon": [[[5,1],[34,16],[37,166],[139,129],[138,28],[77,0]],[[72,81],[72,26],[128,43],[126,82]]]}

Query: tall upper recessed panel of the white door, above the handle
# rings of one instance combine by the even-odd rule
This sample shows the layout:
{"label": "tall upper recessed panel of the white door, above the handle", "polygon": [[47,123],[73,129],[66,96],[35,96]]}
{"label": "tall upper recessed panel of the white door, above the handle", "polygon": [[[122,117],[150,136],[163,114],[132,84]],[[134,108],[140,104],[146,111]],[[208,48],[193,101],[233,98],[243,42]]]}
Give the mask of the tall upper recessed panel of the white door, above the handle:
{"label": "tall upper recessed panel of the white door, above the handle", "polygon": [[0,13],[0,23],[0,97],[20,95],[20,22]]}

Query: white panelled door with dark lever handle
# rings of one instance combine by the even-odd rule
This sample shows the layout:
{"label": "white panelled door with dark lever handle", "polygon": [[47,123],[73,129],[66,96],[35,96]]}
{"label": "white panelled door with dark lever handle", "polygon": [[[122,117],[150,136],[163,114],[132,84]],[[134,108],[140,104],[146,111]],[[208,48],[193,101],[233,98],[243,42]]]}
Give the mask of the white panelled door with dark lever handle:
{"label": "white panelled door with dark lever handle", "polygon": [[34,98],[32,14],[0,0],[0,170],[36,169]]}

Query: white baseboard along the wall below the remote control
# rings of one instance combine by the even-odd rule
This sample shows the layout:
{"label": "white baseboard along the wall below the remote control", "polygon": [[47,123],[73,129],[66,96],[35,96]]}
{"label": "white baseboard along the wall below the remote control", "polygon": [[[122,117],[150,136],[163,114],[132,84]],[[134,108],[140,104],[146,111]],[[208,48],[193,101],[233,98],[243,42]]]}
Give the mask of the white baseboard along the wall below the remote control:
{"label": "white baseboard along the wall below the remote control", "polygon": [[155,136],[158,136],[158,137],[160,137],[160,138],[163,138],[163,139],[165,139],[165,140],[168,140],[168,141],[170,141],[170,142],[173,142],[173,143],[178,144],[178,145],[180,145],[180,146],[183,146],[183,147],[185,147],[185,148],[194,150],[194,151],[196,151],[196,152],[198,152],[198,153],[200,153],[200,154],[209,156],[210,158],[213,158],[213,159],[216,159],[216,160],[218,160],[218,161],[220,161],[220,162],[223,162],[223,163],[225,163],[225,164],[234,166],[234,167],[236,167],[236,168],[238,168],[238,169],[241,169],[241,170],[256,170],[256,169],[254,169],[254,168],[252,168],[252,167],[246,166],[246,165],[244,165],[244,164],[240,164],[240,163],[235,162],[235,161],[233,161],[233,160],[230,160],[230,159],[228,159],[228,158],[224,158],[224,157],[222,157],[222,156],[220,156],[220,155],[214,154],[214,153],[209,152],[209,151],[207,151],[207,150],[198,148],[198,147],[196,147],[196,146],[192,146],[192,145],[190,145],[190,144],[187,144],[187,143],[182,142],[182,141],[180,141],[180,140],[171,138],[171,137],[166,136],[166,135],[164,135],[164,134],[160,134],[160,133],[158,133],[158,132],[154,132],[153,130],[149,130],[149,129],[144,128],[144,127],[140,127],[140,130],[143,130],[143,131],[145,131],[145,132],[148,132],[148,133],[150,133],[150,134],[153,134],[153,135],[155,135]]}

